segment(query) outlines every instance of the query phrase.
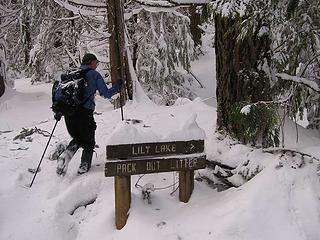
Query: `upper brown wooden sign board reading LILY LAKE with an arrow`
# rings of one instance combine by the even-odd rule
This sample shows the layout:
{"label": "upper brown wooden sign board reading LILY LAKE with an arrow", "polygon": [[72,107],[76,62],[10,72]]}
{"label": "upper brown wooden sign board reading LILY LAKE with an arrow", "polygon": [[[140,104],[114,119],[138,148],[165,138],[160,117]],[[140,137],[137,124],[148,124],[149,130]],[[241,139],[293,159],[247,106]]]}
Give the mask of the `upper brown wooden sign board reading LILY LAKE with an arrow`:
{"label": "upper brown wooden sign board reading LILY LAKE with an arrow", "polygon": [[202,153],[204,140],[108,145],[107,159]]}

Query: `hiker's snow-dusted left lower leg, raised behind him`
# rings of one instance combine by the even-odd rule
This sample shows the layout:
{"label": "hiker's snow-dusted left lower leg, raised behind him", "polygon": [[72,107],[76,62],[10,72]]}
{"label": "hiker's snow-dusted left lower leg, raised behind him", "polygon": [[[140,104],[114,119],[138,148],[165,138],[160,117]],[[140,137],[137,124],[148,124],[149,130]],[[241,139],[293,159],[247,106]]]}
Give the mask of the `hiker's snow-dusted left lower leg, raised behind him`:
{"label": "hiker's snow-dusted left lower leg, raised behind him", "polygon": [[79,145],[75,140],[71,140],[67,149],[59,156],[57,162],[57,174],[60,176],[64,176],[67,173],[68,164],[71,161],[74,154],[79,149]]}

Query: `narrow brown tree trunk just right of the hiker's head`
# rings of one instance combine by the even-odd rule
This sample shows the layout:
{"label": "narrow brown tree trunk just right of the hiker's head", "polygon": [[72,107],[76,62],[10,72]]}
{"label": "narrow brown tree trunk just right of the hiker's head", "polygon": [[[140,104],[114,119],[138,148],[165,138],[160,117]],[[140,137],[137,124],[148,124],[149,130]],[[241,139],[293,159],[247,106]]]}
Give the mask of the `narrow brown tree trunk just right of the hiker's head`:
{"label": "narrow brown tree trunk just right of the hiker's head", "polygon": [[[108,30],[111,34],[109,38],[110,70],[111,81],[116,82],[122,79],[130,97],[130,79],[128,78],[128,68],[126,61],[123,0],[108,0]],[[129,81],[128,81],[129,80]],[[125,93],[122,90],[122,93]],[[126,95],[122,94],[122,103],[126,100]],[[120,107],[119,103],[116,104]]]}

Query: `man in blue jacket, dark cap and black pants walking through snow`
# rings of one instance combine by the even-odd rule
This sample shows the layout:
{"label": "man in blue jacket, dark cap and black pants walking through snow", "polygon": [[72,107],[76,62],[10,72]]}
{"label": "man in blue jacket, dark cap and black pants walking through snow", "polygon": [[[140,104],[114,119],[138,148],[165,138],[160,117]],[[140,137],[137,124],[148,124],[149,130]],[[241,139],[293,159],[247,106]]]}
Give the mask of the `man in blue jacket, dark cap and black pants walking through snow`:
{"label": "man in blue jacket, dark cap and black pants walking through snow", "polygon": [[112,88],[107,88],[102,76],[96,71],[98,64],[99,60],[94,54],[86,53],[82,58],[80,68],[83,70],[88,69],[85,75],[87,86],[84,91],[84,99],[87,100],[80,106],[75,114],[64,117],[67,130],[72,140],[68,144],[67,149],[58,158],[58,175],[64,176],[66,174],[68,163],[80,147],[83,148],[83,151],[78,174],[89,171],[95,146],[95,130],[97,128],[93,118],[95,93],[98,90],[101,96],[111,98],[117,94],[121,88],[121,80],[113,84]]}

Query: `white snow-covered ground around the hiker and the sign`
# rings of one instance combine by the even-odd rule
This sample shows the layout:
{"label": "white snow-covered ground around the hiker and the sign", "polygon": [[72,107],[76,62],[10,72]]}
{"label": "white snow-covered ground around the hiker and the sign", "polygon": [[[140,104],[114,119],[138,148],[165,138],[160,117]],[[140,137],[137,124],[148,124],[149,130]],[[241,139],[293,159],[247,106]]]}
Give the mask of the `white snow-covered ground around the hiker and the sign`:
{"label": "white snow-covered ground around the hiker and the sign", "polygon": [[[48,154],[58,142],[69,140],[61,121],[41,172],[32,188],[25,188],[32,179],[27,169],[37,166],[48,141],[40,133],[51,132],[54,126],[49,108],[51,86],[41,84],[31,88],[25,79],[17,81],[15,86],[16,90],[7,89],[0,98],[1,240],[320,239],[318,160],[263,153],[261,149],[222,138],[214,131],[216,109],[201,99],[178,99],[171,107],[147,101],[127,103],[125,118],[143,121],[128,128],[128,138],[173,139],[182,137],[181,131],[188,136],[188,126],[197,129],[189,134],[192,137],[200,134],[199,126],[205,132],[208,159],[234,167],[234,175],[228,180],[239,187],[219,192],[201,181],[204,179],[201,177],[215,181],[213,172],[218,169],[203,169],[196,172],[198,180],[189,203],[179,202],[174,185],[153,192],[152,203],[148,204],[142,199],[141,189],[134,186],[139,176],[133,176],[130,216],[126,226],[116,230],[114,182],[113,178],[104,177],[105,148],[112,142],[110,137],[115,138],[114,131],[119,136],[124,123],[120,111],[113,110],[107,100],[98,97],[95,119],[99,148],[92,170],[77,176],[79,150],[67,175],[56,176],[56,162],[48,160]],[[299,128],[300,138],[296,143],[295,125],[287,123],[286,147],[320,158],[319,136]],[[13,140],[23,128],[34,127],[38,129],[34,134]],[[172,172],[145,175],[139,180],[140,185],[153,183],[156,188],[175,182],[177,174]]]}

